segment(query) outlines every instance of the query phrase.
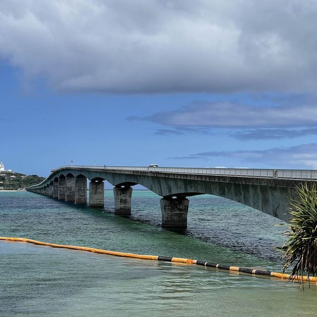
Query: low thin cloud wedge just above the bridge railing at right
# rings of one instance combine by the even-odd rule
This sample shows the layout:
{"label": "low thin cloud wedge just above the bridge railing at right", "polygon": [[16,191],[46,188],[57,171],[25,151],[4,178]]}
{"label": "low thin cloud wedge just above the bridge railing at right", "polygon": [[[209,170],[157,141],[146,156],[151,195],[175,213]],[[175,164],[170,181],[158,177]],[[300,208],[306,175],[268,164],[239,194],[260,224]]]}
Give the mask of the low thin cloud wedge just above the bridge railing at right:
{"label": "low thin cloud wedge just above the bridge railing at right", "polygon": [[317,143],[254,151],[211,151],[171,159],[208,159],[211,157],[230,158],[241,163],[264,163],[271,166],[281,166],[282,164],[282,167],[301,165],[317,169]]}

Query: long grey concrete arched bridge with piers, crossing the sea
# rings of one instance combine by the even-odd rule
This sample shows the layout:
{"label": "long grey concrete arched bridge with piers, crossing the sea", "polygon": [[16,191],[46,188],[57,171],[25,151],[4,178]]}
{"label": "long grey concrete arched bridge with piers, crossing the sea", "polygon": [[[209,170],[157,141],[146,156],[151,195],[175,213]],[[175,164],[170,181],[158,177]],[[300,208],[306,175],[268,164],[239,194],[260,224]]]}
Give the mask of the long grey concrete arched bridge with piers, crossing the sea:
{"label": "long grey concrete arched bridge with piers, crossing the sea", "polygon": [[211,194],[264,211],[288,221],[287,204],[303,181],[317,181],[317,170],[62,166],[30,192],[75,204],[104,208],[104,180],[114,188],[114,212],[131,214],[131,186],[140,184],[161,196],[162,226],[186,228],[187,197]]}

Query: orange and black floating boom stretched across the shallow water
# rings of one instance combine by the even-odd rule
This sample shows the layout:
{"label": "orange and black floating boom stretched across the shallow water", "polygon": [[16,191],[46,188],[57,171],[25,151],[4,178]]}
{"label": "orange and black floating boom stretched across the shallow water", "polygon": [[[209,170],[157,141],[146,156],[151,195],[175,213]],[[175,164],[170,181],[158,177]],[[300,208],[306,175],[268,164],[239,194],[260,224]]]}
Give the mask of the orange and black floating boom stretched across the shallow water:
{"label": "orange and black floating boom stretched across the shallow water", "polygon": [[[278,273],[278,272],[264,271],[264,270],[252,269],[252,268],[247,268],[247,267],[215,264],[215,263],[211,263],[211,262],[198,261],[198,260],[192,260],[192,259],[151,256],[151,255],[142,255],[142,254],[134,254],[134,253],[108,251],[108,250],[89,248],[89,247],[78,247],[78,246],[69,246],[69,245],[63,245],[63,244],[54,244],[54,243],[42,242],[42,241],[37,241],[37,240],[32,240],[32,239],[27,239],[27,238],[0,237],[0,240],[28,242],[28,243],[38,244],[38,245],[42,245],[42,246],[49,246],[49,247],[53,247],[53,248],[81,250],[81,251],[88,251],[88,252],[94,252],[94,253],[100,253],[100,254],[107,254],[107,255],[112,255],[112,256],[116,256],[116,257],[126,257],[126,258],[142,259],[142,260],[153,260],[153,261],[165,261],[165,262],[172,262],[172,263],[196,264],[196,265],[202,265],[202,266],[206,266],[206,267],[214,267],[214,268],[223,269],[223,270],[248,273],[248,274],[252,274],[255,276],[266,275],[266,276],[271,276],[271,277],[277,277],[277,278],[280,278],[282,280],[286,280],[290,277],[290,274],[285,274],[285,273],[283,274],[283,273]],[[294,278],[294,280],[299,281],[299,282],[303,282],[303,281],[317,282],[316,277],[308,277],[308,276],[305,276],[303,278],[300,276],[296,276]]]}

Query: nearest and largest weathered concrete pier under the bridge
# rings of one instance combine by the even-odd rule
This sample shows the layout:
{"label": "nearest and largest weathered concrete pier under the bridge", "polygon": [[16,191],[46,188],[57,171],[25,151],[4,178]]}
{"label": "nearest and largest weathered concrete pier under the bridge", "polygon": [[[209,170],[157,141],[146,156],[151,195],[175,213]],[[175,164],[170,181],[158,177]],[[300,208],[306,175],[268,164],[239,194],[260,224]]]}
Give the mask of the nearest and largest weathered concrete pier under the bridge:
{"label": "nearest and largest weathered concrete pier under the bridge", "polygon": [[189,200],[185,197],[162,198],[160,200],[162,227],[187,228],[188,206]]}

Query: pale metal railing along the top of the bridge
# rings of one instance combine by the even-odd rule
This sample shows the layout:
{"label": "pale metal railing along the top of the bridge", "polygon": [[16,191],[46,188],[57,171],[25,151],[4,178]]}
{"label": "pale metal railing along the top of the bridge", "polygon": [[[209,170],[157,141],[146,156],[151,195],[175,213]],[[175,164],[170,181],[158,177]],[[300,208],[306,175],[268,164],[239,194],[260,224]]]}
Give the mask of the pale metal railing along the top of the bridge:
{"label": "pale metal railing along the top of the bridge", "polygon": [[96,170],[121,171],[151,171],[167,173],[206,174],[235,177],[261,177],[285,179],[314,179],[317,180],[317,170],[300,169],[257,169],[257,168],[202,168],[202,167],[152,167],[152,166],[62,166],[52,171],[64,168],[81,168]]}

